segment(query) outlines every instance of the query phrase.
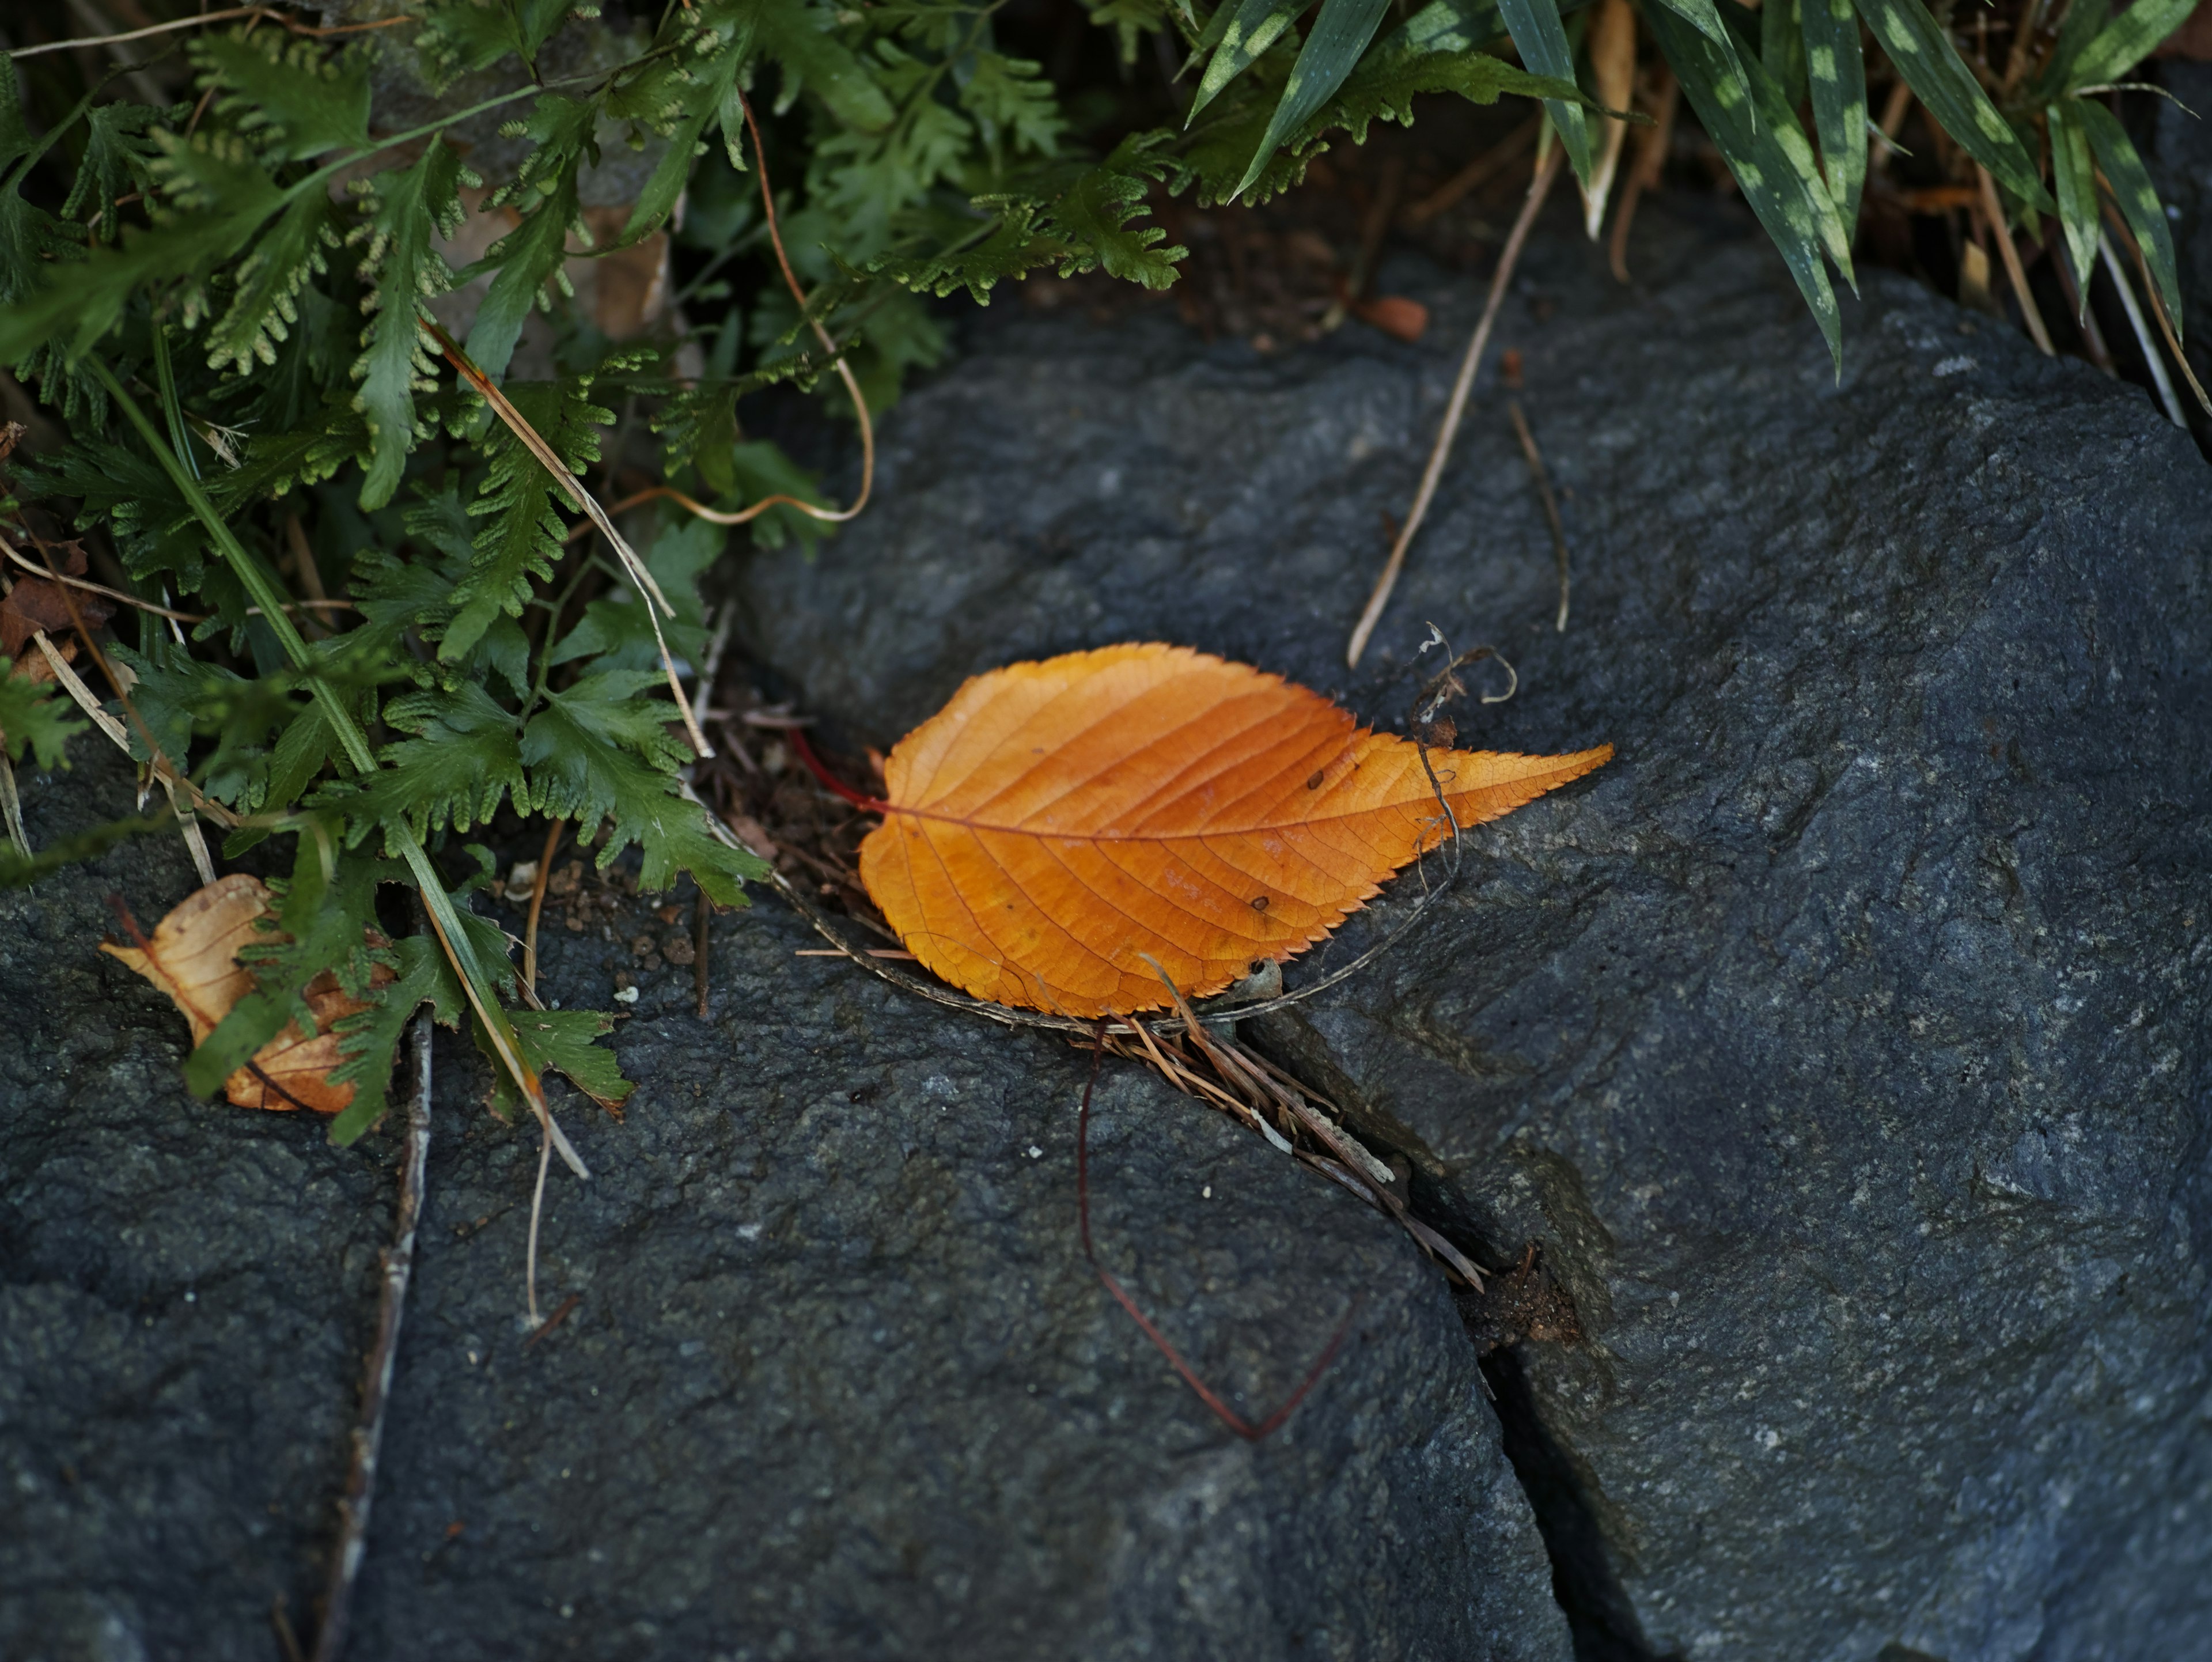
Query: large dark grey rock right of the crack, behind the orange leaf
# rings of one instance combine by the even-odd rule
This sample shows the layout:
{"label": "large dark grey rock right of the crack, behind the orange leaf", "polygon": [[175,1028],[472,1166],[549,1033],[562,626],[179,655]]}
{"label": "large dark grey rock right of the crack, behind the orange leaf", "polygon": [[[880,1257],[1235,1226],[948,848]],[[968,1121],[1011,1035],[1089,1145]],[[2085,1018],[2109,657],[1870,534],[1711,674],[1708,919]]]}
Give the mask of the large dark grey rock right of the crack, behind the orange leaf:
{"label": "large dark grey rock right of the crack, behind the orange leaf", "polygon": [[1267,1038],[1573,1295],[1498,1377],[1582,1655],[2212,1658],[2212,474],[1902,279],[1838,381],[1747,232],[1646,208],[1624,292],[1564,219],[1500,328],[1564,635],[1482,392],[1343,666],[1475,301],[1398,263],[1418,347],[993,316],[752,648],[883,744],[1110,640],[1380,719],[1429,622],[1502,646],[1462,744],[1617,761]]}

